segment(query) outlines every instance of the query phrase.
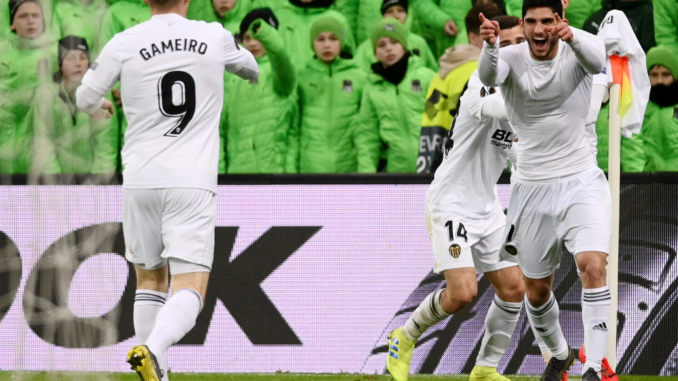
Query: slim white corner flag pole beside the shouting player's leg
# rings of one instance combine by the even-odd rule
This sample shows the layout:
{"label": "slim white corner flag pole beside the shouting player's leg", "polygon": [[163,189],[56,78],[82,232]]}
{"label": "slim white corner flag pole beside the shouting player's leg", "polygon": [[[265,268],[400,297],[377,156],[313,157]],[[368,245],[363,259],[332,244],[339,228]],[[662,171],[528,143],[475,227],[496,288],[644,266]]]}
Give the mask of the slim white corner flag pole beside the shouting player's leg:
{"label": "slim white corner flag pole beside the shouting player's leg", "polygon": [[607,284],[612,297],[612,314],[610,330],[607,338],[607,361],[610,367],[617,366],[617,298],[619,273],[619,193],[621,173],[622,116],[619,114],[619,99],[622,85],[612,84],[610,87],[610,150],[607,156],[607,181],[612,193],[612,244],[610,256],[607,256]]}

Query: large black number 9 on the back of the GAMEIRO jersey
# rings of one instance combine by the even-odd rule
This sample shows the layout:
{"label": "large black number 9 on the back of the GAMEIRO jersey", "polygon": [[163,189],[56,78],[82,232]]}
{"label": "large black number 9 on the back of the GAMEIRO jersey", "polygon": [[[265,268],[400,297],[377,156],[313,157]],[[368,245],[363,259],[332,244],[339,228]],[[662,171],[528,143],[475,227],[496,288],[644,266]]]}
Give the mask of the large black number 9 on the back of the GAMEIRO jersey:
{"label": "large black number 9 on the back of the GAMEIRO jersey", "polygon": [[[174,104],[172,90],[180,87],[180,103]],[[187,72],[167,72],[158,81],[158,104],[160,112],[171,118],[180,118],[179,122],[165,133],[165,136],[178,136],[195,114],[195,81]]]}

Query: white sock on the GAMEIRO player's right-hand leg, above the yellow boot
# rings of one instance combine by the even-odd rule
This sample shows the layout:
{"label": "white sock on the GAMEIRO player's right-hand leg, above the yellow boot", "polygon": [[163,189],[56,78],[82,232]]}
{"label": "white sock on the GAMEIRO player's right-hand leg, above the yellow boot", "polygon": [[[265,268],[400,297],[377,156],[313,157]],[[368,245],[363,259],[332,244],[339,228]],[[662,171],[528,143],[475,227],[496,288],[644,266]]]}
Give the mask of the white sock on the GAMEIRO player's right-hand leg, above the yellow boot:
{"label": "white sock on the GAMEIRO player's right-hand leg, above the yellow boot", "polygon": [[156,357],[164,356],[170,346],[181,340],[195,326],[203,299],[193,288],[182,288],[172,294],[158,313],[146,346]]}

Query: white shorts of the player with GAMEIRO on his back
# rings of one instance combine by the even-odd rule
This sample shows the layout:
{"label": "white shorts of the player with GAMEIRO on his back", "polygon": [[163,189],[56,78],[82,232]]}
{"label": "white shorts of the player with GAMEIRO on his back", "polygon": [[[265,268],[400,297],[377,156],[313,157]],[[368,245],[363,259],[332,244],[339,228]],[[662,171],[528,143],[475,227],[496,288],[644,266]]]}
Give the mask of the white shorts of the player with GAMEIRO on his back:
{"label": "white shorts of the player with GAMEIRO on his back", "polygon": [[125,189],[127,261],[142,269],[157,269],[167,258],[176,258],[211,269],[214,196],[214,192],[197,188]]}

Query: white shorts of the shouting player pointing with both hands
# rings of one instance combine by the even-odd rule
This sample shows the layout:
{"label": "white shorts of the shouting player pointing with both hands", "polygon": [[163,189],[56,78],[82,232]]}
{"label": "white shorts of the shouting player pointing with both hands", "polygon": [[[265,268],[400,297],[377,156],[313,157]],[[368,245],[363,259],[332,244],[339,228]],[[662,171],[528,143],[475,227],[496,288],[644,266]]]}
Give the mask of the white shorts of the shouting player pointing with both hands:
{"label": "white shorts of the shouting player pointing with both hands", "polygon": [[511,179],[502,259],[541,279],[559,267],[563,242],[572,254],[610,253],[612,196],[601,169],[541,181]]}

